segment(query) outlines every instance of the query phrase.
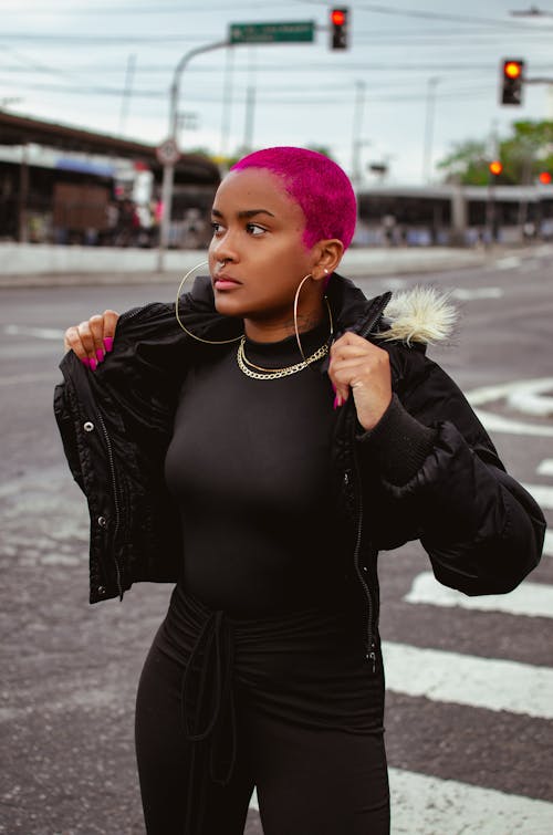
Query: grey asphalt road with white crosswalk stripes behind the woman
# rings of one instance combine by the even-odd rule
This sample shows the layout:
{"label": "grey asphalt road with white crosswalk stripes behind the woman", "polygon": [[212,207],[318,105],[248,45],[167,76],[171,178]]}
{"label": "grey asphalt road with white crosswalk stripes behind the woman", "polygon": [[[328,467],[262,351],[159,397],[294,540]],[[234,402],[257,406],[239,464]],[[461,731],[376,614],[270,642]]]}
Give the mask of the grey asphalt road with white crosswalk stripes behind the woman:
{"label": "grey asphalt road with white crosswalk stripes behind the woman", "polygon": [[[508,469],[539,493],[553,528],[551,264],[510,258],[357,283],[367,294],[417,283],[452,291],[458,330],[430,354],[478,400]],[[67,324],[154,299],[171,300],[173,288],[0,291],[0,833],[144,833],[134,696],[170,588],[139,585],[124,604],[88,605],[86,512],[52,393]],[[440,602],[434,586],[425,592],[428,570],[418,545],[380,560],[393,833],[546,835],[552,554],[522,584],[528,594],[489,609]],[[435,674],[440,680],[428,680]],[[253,805],[249,835],[261,832]]]}

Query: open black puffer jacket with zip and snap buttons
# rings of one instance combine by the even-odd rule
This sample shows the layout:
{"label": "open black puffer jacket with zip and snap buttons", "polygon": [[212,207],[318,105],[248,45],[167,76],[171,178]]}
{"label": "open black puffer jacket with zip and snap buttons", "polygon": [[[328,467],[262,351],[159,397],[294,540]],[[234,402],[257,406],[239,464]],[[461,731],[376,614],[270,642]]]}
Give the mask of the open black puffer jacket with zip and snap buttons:
{"label": "open black puffer jacket with zip and snap buttons", "polygon": [[[357,424],[349,398],[336,411],[331,450],[344,573],[357,577],[363,592],[372,655],[379,550],[420,539],[441,583],[470,595],[499,594],[539,563],[545,522],[504,471],[450,377],[424,348],[386,341],[383,314],[390,294],[367,300],[335,274],[328,299],[337,334],[352,330],[388,351],[395,392],[372,432]],[[211,340],[241,332],[241,322],[215,311],[208,279],[196,281],[180,316]],[[134,582],[178,578],[186,554],[164,482],[165,452],[185,369],[197,352],[218,349],[228,346],[192,341],[173,305],[156,303],[121,316],[114,351],[95,373],[72,352],[63,358],[54,411],[73,477],[88,501],[91,603],[123,597]]]}

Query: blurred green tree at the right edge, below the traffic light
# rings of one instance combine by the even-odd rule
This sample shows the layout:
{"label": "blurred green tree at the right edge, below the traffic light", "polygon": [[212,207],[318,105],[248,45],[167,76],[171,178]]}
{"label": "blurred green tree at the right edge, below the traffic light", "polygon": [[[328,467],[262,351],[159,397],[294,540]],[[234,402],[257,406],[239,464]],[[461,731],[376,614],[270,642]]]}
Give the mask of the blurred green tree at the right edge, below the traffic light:
{"label": "blurred green tree at the right edge, below the traffic light", "polygon": [[553,170],[553,122],[514,122],[511,134],[500,140],[492,153],[486,139],[467,139],[438,163],[445,181],[484,186],[488,164],[497,156],[503,164],[498,181],[503,185],[530,185],[541,170]]}

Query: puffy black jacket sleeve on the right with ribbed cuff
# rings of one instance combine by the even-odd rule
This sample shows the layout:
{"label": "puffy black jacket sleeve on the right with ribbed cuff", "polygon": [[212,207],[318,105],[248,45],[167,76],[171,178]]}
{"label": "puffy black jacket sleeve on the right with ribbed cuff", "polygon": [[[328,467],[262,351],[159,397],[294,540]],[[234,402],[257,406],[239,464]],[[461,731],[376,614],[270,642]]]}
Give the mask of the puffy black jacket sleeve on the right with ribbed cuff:
{"label": "puffy black jacket sleeve on the right with ribbed cuff", "polygon": [[419,351],[398,353],[394,399],[357,442],[362,471],[377,473],[376,544],[420,539],[445,585],[469,595],[510,592],[540,561],[543,513],[505,472],[446,372]]}

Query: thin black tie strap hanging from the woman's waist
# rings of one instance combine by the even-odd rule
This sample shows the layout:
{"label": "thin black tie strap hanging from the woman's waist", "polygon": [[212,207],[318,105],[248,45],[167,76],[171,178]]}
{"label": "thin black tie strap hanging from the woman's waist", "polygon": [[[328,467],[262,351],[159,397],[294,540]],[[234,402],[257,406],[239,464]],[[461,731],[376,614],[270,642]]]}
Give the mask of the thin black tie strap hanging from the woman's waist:
{"label": "thin black tie strap hanging from the woman's waist", "polygon": [[237,719],[232,688],[233,659],[232,630],[222,612],[211,612],[194,645],[180,691],[182,730],[186,739],[192,743],[185,835],[201,832],[207,781],[210,779],[219,785],[228,785],[234,770]]}

